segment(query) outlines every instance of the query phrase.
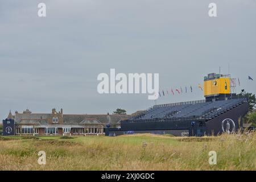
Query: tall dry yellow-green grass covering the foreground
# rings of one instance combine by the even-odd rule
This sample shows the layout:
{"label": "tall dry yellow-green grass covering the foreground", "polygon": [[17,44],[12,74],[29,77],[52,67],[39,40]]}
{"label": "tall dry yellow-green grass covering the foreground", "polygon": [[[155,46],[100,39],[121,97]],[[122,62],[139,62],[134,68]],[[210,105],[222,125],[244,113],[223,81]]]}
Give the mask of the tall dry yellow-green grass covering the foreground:
{"label": "tall dry yellow-green grass covering the foreground", "polygon": [[[255,170],[256,133],[218,137],[1,137],[0,170]],[[46,165],[38,152],[46,152]],[[209,165],[209,151],[217,164]]]}

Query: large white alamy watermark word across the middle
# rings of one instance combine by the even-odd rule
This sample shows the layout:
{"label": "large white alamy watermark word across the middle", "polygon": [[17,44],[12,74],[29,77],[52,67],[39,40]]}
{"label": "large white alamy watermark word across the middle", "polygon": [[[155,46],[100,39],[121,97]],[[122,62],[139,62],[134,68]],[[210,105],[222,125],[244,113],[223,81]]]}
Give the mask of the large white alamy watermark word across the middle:
{"label": "large white alamy watermark word across the middle", "polygon": [[[154,76],[154,87],[153,87]],[[97,77],[101,81],[97,86],[100,94],[148,94],[148,100],[156,100],[159,96],[159,73],[118,73],[110,69],[110,76],[107,73],[100,73]]]}

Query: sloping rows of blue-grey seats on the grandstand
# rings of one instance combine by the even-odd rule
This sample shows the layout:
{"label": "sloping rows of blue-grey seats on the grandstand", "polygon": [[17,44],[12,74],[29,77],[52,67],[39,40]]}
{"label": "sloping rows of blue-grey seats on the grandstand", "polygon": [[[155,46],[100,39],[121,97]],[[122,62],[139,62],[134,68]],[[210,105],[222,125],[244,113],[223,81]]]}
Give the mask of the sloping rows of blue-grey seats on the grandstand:
{"label": "sloping rows of blue-grey seats on the grandstand", "polygon": [[[246,98],[222,100],[214,102],[191,101],[175,104],[155,105],[139,117],[131,118],[131,122],[155,121],[157,119],[179,120],[179,119],[212,119],[226,111],[247,102]],[[127,122],[129,122],[127,121]]]}

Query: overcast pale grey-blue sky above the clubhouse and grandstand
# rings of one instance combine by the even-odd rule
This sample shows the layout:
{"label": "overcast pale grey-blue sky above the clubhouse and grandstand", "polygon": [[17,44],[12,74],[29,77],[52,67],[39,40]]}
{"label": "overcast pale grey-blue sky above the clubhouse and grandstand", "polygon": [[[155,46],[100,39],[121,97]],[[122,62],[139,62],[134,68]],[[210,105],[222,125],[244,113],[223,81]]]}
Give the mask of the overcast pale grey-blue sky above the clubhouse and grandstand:
{"label": "overcast pale grey-blue sky above the clubhouse and grandstand", "polygon": [[[46,4],[46,17],[38,4]],[[210,18],[208,5],[217,5]],[[148,94],[99,94],[100,73],[159,73],[156,104],[204,99],[208,73],[240,78],[255,93],[255,0],[55,0],[0,2],[0,117],[11,110],[128,114],[155,104]],[[238,91],[239,90],[239,91]],[[170,92],[170,91],[169,91]]]}

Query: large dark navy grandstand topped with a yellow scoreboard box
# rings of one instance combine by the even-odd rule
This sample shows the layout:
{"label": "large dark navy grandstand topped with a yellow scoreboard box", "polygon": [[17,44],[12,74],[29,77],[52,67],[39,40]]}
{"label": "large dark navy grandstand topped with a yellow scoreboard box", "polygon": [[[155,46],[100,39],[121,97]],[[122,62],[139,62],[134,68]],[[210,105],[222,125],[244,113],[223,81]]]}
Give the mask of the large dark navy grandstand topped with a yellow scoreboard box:
{"label": "large dark navy grandstand topped with a yellow scoreboard box", "polygon": [[227,92],[230,81],[225,79],[229,78],[211,73],[205,78],[205,100],[154,105],[135,117],[121,121],[121,129],[108,129],[106,135],[202,136],[235,132],[242,127],[242,117],[247,113],[249,103],[247,98],[230,93],[230,89]]}

